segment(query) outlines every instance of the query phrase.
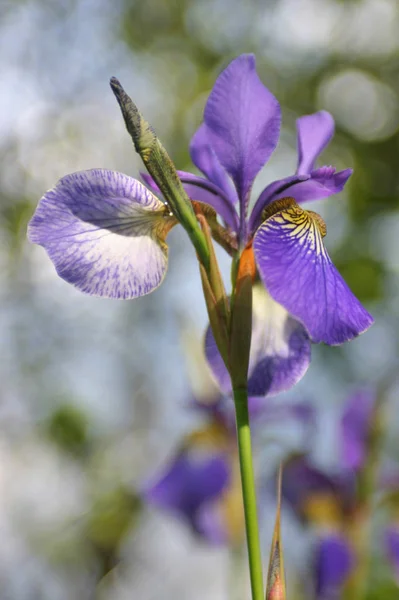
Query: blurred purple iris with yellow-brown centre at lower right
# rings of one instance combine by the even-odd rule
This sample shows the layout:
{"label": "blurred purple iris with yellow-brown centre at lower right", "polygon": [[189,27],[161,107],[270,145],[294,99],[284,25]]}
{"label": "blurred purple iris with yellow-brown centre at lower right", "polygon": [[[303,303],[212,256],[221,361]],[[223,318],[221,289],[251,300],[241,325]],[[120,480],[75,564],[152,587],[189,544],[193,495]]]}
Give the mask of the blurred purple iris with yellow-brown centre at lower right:
{"label": "blurred purple iris with yellow-brown centre at lower right", "polygon": [[[339,423],[341,453],[337,470],[322,471],[307,456],[293,459],[284,469],[283,500],[303,523],[313,525],[317,534],[312,561],[317,600],[341,597],[342,587],[356,567],[351,528],[357,511],[362,510],[357,479],[367,458],[374,405],[371,390],[359,390],[347,399]],[[381,478],[378,492],[383,488],[387,484]],[[384,542],[385,554],[399,573],[397,523],[386,530]]]}

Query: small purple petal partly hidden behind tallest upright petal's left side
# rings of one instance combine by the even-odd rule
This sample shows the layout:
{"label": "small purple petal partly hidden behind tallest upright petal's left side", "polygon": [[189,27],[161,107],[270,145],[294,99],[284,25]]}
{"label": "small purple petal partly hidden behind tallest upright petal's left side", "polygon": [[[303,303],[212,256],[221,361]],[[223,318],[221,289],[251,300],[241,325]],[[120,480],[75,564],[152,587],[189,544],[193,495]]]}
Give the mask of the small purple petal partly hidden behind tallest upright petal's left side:
{"label": "small purple petal partly hidden behind tallest upright petal's left side", "polygon": [[211,183],[223,191],[230,203],[236,204],[238,202],[237,193],[211,147],[211,140],[205,123],[200,125],[191,138],[190,156],[195,166],[203,172]]}

